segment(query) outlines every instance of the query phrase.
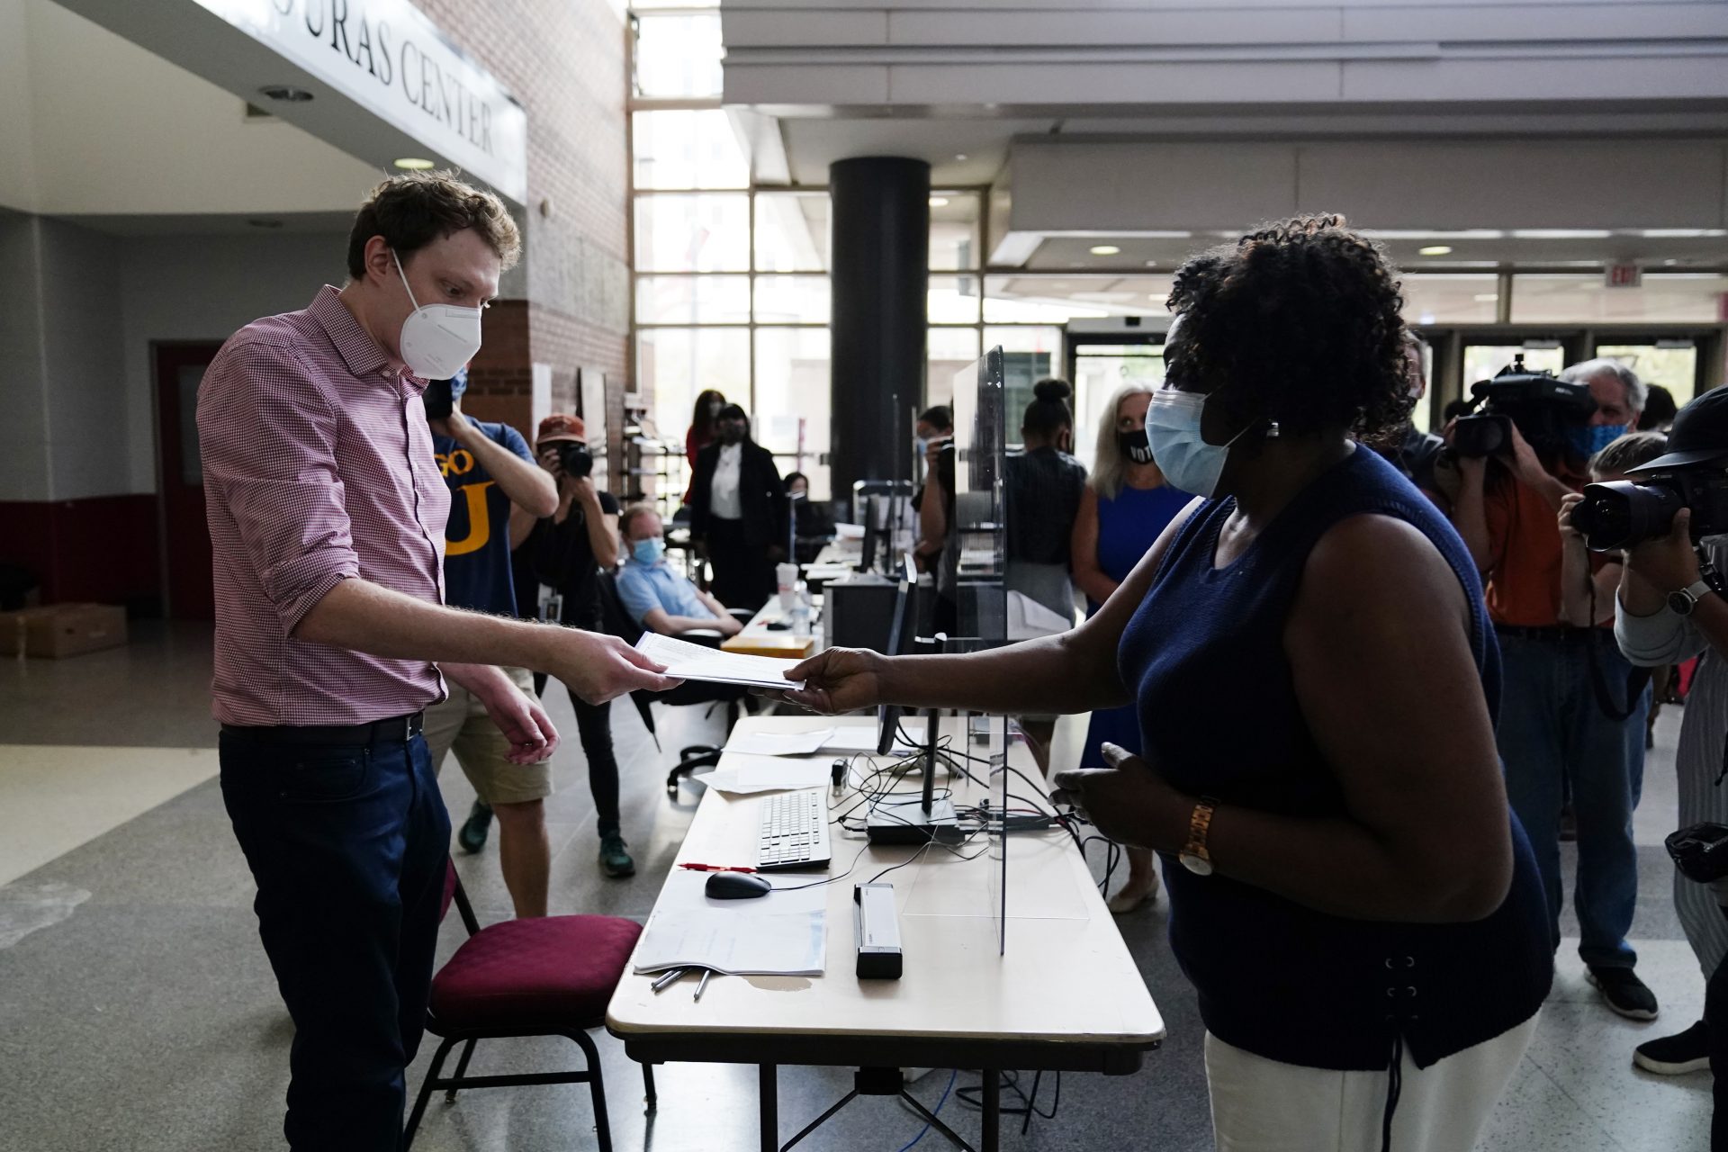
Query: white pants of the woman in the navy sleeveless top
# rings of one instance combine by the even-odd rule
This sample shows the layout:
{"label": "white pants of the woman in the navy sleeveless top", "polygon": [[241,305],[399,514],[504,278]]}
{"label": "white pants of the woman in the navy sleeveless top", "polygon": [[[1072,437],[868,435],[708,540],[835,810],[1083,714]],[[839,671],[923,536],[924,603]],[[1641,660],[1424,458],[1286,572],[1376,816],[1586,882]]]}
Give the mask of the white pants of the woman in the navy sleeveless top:
{"label": "white pants of the woman in the navy sleeveless top", "polygon": [[[1536,1031],[1512,1031],[1419,1069],[1405,1052],[1393,1152],[1471,1152]],[[1206,1033],[1218,1152],[1379,1152],[1388,1073],[1280,1064]]]}

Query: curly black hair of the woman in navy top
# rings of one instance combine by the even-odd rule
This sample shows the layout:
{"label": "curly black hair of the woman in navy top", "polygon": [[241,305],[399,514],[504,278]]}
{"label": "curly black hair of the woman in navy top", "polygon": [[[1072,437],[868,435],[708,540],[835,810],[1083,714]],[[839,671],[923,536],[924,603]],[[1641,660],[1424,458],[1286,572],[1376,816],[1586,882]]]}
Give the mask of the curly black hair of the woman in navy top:
{"label": "curly black hair of the woman in navy top", "polygon": [[1165,368],[1236,425],[1374,440],[1410,420],[1398,271],[1343,216],[1294,216],[1191,257]]}

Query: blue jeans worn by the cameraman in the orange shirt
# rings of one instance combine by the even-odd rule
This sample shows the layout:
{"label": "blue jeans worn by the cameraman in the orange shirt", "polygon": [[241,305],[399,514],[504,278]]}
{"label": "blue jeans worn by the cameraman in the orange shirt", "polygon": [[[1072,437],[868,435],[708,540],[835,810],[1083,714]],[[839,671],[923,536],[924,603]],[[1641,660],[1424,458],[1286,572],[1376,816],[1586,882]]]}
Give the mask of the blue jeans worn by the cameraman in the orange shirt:
{"label": "blue jeans worn by the cameraman in the orange shirt", "polygon": [[1638,903],[1631,813],[1643,791],[1643,720],[1650,689],[1643,689],[1626,720],[1612,720],[1591,682],[1591,648],[1609,693],[1624,705],[1631,665],[1605,629],[1566,639],[1502,636],[1505,687],[1496,741],[1507,770],[1507,796],[1536,850],[1553,946],[1560,946],[1566,900],[1560,807],[1566,784],[1571,784],[1578,817],[1578,955],[1595,967],[1633,967],[1638,953],[1626,943]]}

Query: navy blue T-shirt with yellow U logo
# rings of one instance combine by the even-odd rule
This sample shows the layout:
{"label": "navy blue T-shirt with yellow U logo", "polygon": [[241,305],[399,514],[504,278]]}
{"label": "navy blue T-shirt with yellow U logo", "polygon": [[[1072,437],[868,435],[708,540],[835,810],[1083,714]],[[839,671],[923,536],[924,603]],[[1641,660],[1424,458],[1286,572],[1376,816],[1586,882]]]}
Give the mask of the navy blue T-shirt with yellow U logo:
{"label": "navy blue T-shirt with yellow U logo", "polygon": [[[529,442],[506,423],[470,420],[486,439],[534,463]],[[444,527],[444,603],[494,615],[517,615],[510,580],[510,497],[473,453],[448,435],[432,437],[432,453],[449,485]]]}

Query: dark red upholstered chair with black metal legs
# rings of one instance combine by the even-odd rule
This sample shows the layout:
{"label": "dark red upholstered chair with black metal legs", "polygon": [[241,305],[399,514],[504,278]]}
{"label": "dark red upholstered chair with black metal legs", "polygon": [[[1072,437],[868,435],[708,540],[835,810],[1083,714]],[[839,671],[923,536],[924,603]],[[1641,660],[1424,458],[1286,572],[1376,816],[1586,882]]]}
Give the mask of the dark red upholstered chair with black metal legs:
{"label": "dark red upholstered chair with black metal legs", "polygon": [[[607,1022],[607,1002],[624,978],[641,924],[615,915],[548,915],[480,927],[454,864],[444,881],[446,914],[451,902],[461,914],[468,940],[432,978],[427,1031],[439,1036],[441,1043],[408,1116],[403,1150],[413,1143],[427,1100],[439,1088],[446,1090],[448,1102],[454,1102],[461,1088],[586,1083],[594,1097],[600,1152],[612,1152],[600,1050],[588,1031]],[[473,1045],[503,1036],[569,1036],[582,1048],[588,1069],[468,1076]],[[456,1060],[456,1074],[441,1078],[444,1059],[458,1043],[463,1050]],[[653,1111],[657,1098],[650,1064],[643,1064],[643,1085],[648,1090],[648,1109]]]}

